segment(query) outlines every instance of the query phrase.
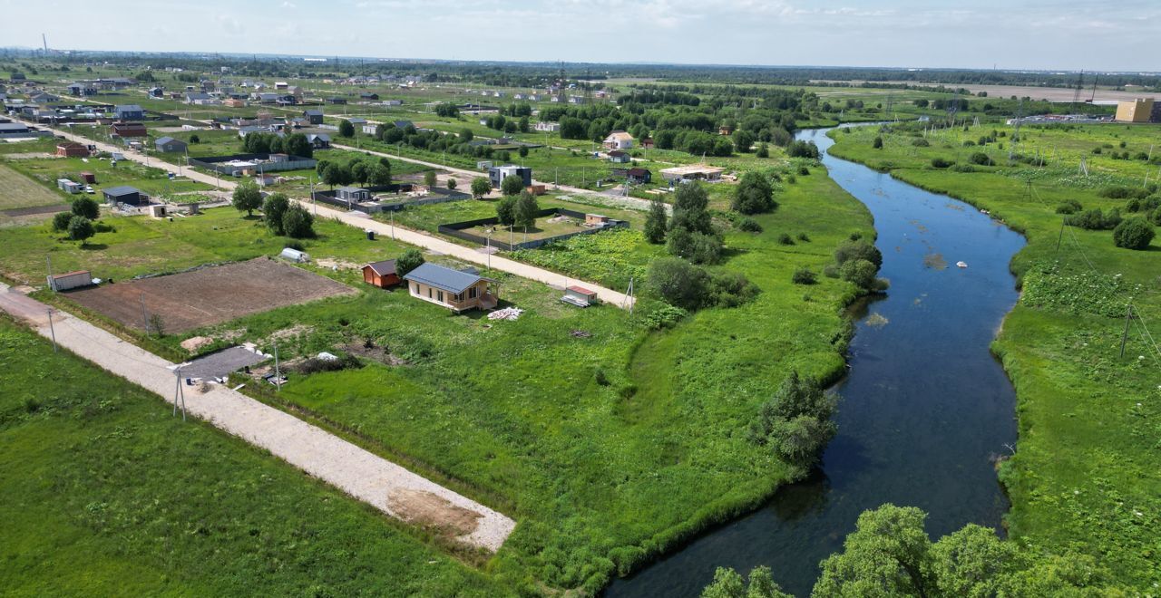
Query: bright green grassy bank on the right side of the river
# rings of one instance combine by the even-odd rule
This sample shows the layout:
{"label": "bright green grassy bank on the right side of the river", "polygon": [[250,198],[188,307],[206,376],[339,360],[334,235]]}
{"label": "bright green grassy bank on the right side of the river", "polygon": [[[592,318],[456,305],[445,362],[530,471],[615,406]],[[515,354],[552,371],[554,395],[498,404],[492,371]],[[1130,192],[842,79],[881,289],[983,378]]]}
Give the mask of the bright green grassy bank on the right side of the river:
{"label": "bright green grassy bank on the right side of the river", "polygon": [[[1010,127],[995,127],[1010,133]],[[1161,241],[1144,251],[1117,248],[1111,231],[1061,228],[1057,206],[1075,199],[1084,210],[1117,207],[1126,217],[1140,216],[1127,211],[1126,199],[1103,195],[1118,185],[1141,188],[1144,173],[1156,166],[1109,153],[1148,152],[1149,139],[1161,130],[1025,126],[1019,153],[1044,156],[1040,167],[1038,160],[1010,166],[1010,147],[1001,146],[1010,143],[1007,134],[978,145],[991,129],[925,139],[921,129],[835,132],[831,153],[989,210],[1027,236],[1011,264],[1024,293],[994,344],[1018,396],[1017,452],[1000,469],[1012,499],[1005,523],[1030,550],[1090,554],[1111,578],[1155,591],[1161,583],[1161,355],[1142,330],[1154,340],[1161,336]],[[882,148],[873,146],[875,137]],[[973,163],[975,153],[997,166]],[[1088,176],[1079,174],[1081,158]],[[937,168],[933,159],[971,165],[971,172]],[[1120,357],[1130,300],[1140,319],[1131,323]]]}

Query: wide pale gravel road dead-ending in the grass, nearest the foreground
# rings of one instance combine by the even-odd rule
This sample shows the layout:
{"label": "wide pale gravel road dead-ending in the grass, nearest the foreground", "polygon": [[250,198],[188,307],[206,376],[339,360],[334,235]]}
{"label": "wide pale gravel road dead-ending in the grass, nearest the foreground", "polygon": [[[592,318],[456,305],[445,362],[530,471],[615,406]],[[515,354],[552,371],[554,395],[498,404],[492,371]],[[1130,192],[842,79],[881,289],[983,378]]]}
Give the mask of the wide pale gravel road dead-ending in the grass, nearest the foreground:
{"label": "wide pale gravel road dead-ending in the grass, nearest the foreground", "polygon": [[[6,285],[0,285],[0,309],[28,322],[44,337],[52,334],[48,306]],[[68,314],[53,312],[52,323],[60,347],[173,402],[174,364]],[[217,385],[204,394],[189,386],[185,389],[189,414],[269,451],[391,517],[406,522],[409,513],[424,512],[432,504],[466,509],[478,515],[477,525],[475,531],[456,539],[492,552],[499,549],[515,527],[515,522],[503,513],[241,393]]]}

